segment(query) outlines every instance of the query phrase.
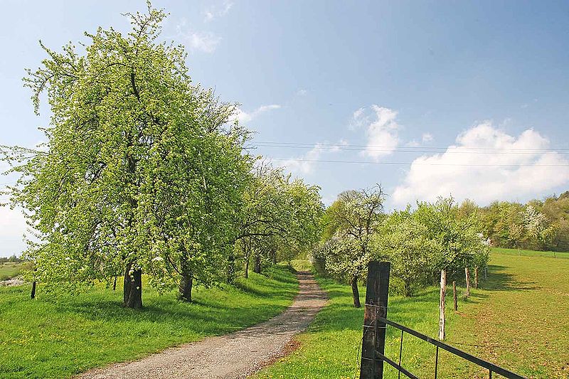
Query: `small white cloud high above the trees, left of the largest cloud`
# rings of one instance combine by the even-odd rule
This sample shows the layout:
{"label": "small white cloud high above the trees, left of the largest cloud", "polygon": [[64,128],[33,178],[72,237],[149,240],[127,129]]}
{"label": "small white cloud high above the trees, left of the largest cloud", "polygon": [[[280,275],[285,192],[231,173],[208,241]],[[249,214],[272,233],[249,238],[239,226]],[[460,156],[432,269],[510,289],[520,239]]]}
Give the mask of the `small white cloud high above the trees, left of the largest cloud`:
{"label": "small white cloud high above the trees, left of the largest cloud", "polygon": [[367,146],[363,156],[371,156],[379,161],[383,156],[392,154],[400,140],[396,122],[397,112],[389,108],[371,105],[371,109],[360,108],[353,112],[351,129],[366,130]]}

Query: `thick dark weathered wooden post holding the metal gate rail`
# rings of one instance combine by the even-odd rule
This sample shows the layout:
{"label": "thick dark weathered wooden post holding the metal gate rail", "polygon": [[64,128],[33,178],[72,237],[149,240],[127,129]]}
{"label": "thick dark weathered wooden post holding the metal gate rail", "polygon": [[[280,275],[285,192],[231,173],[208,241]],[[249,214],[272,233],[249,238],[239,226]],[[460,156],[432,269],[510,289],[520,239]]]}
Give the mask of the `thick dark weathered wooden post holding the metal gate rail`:
{"label": "thick dark weathered wooden post holding the metal gate rail", "polygon": [[385,352],[385,323],[376,317],[387,317],[389,294],[389,262],[373,261],[368,266],[366,304],[361,340],[360,379],[383,379],[383,360],[376,352]]}

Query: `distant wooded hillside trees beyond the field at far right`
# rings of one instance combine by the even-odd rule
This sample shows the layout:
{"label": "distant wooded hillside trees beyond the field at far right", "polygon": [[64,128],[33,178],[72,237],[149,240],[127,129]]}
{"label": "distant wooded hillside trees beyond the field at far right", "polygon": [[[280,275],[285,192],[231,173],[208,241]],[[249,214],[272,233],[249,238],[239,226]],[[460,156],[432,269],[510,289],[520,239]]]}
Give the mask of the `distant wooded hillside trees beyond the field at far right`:
{"label": "distant wooded hillside trees beyond the field at far right", "polygon": [[479,207],[467,200],[460,205],[460,217],[473,213],[494,246],[569,251],[569,191],[526,204],[496,201]]}

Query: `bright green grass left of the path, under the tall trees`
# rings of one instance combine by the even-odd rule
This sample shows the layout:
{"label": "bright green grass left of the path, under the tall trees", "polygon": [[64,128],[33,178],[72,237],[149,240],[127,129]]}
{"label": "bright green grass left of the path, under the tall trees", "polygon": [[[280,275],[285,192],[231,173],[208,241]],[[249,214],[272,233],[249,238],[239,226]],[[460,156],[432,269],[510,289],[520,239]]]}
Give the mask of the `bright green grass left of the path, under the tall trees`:
{"label": "bright green grass left of the path, under the tall trees", "polygon": [[238,288],[194,291],[192,304],[144,288],[144,309],[123,309],[122,289],[51,296],[0,287],[0,378],[65,378],[179,343],[230,333],[280,313],[298,282],[287,267],[250,273]]}

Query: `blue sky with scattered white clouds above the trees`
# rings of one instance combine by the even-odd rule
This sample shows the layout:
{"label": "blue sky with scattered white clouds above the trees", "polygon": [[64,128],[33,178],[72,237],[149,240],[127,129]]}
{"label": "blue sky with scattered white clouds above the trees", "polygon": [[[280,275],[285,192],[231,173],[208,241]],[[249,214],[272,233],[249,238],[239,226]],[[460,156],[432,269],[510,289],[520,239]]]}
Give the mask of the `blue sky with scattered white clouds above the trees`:
{"label": "blue sky with scattered white clouds above the trees", "polygon": [[[194,81],[240,103],[260,154],[322,188],[326,203],[381,183],[388,208],[452,194],[482,205],[569,188],[569,3],[154,1]],[[127,30],[141,1],[2,1],[0,144],[43,139],[24,68]],[[289,143],[289,147],[283,145]],[[292,146],[292,147],[290,147]],[[346,163],[358,162],[358,163]],[[361,162],[368,162],[363,164]],[[5,178],[10,182],[12,178]],[[23,248],[0,210],[0,255]]]}

